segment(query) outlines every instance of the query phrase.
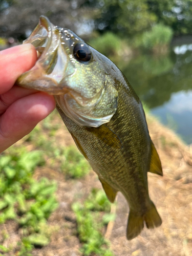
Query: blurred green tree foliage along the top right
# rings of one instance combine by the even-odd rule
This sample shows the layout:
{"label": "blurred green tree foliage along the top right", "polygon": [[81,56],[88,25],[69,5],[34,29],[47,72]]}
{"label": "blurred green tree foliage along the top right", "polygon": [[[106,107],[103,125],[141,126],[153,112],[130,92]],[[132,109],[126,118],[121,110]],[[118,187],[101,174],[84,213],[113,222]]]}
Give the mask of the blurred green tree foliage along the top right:
{"label": "blurred green tree foliage along the top right", "polygon": [[86,0],[97,10],[95,28],[132,37],[162,23],[175,35],[192,33],[192,0]]}

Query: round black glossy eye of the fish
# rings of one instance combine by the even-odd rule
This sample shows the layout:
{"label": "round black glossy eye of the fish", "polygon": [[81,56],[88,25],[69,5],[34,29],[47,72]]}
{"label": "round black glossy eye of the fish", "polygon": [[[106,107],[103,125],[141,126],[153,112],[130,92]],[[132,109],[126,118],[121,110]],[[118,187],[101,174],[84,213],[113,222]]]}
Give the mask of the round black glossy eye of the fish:
{"label": "round black glossy eye of the fish", "polygon": [[86,44],[76,44],[73,49],[74,57],[82,62],[87,62],[91,59],[91,50]]}

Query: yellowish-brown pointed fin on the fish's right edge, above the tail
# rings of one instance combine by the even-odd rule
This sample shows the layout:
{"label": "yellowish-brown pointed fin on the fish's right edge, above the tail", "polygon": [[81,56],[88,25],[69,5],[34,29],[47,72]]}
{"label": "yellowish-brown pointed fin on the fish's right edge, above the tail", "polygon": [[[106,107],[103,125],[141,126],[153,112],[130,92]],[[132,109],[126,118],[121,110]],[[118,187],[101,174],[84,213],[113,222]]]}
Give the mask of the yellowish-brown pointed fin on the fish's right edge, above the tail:
{"label": "yellowish-brown pointed fin on the fish's right edge, above the tail", "polygon": [[156,148],[152,140],[151,140],[151,163],[150,163],[149,172],[163,176],[161,161],[159,159],[159,155],[156,151]]}

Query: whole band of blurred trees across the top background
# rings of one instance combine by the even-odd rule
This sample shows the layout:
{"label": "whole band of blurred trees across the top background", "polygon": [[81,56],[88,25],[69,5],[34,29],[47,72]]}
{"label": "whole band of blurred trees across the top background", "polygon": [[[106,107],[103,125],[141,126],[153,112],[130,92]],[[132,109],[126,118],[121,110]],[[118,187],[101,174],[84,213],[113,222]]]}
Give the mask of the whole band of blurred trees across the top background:
{"label": "whole band of blurred trees across the top background", "polygon": [[0,0],[0,37],[27,37],[40,15],[77,34],[93,29],[131,38],[157,23],[175,35],[192,33],[192,0]]}

